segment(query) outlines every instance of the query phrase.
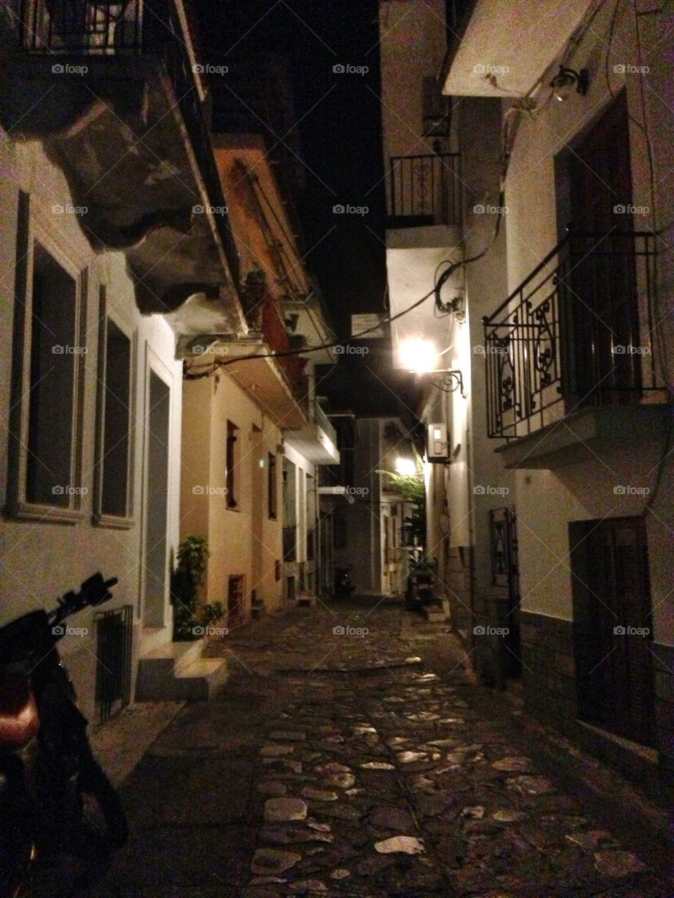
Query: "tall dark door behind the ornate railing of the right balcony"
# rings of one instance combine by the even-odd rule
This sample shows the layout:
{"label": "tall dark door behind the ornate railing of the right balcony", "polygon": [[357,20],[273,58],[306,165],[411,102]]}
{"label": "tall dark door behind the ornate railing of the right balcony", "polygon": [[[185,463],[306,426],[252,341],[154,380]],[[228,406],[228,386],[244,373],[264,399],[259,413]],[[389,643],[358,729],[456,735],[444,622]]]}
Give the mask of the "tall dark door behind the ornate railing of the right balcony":
{"label": "tall dark door behind the ornate railing of the right balcony", "polygon": [[630,401],[640,386],[639,357],[623,351],[639,345],[628,124],[623,92],[568,157],[566,386],[582,404]]}

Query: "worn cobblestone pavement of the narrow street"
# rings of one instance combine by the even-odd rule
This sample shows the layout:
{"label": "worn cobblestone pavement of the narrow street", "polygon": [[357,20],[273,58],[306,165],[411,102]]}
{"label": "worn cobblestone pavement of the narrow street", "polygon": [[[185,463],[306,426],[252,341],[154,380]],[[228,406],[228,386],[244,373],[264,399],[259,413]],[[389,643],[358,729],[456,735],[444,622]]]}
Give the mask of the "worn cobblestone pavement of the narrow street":
{"label": "worn cobblestone pavement of the narrow street", "polygon": [[[127,780],[135,834],[97,894],[671,898],[665,858],[627,850],[471,707],[442,629],[319,606],[214,645],[232,677]],[[412,635],[445,639],[449,673]]]}

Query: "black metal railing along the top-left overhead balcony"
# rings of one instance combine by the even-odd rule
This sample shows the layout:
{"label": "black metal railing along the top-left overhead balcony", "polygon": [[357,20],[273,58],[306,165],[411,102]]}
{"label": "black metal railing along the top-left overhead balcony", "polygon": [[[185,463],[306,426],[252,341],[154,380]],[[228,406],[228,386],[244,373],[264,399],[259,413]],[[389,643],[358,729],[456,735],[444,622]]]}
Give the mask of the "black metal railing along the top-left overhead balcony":
{"label": "black metal railing along the top-left overhead balcony", "polygon": [[[211,136],[202,109],[199,66],[190,53],[182,0],[14,0],[18,5],[20,46],[42,56],[92,56],[101,60],[157,57],[164,67],[187,129],[191,150],[213,207],[226,207],[215,165]],[[182,13],[182,14],[181,14]],[[139,76],[142,69],[138,66]],[[123,82],[121,82],[123,85]],[[123,89],[123,87],[121,88]],[[198,198],[196,198],[198,201]],[[229,218],[214,216],[214,225],[235,283],[239,254]]]}

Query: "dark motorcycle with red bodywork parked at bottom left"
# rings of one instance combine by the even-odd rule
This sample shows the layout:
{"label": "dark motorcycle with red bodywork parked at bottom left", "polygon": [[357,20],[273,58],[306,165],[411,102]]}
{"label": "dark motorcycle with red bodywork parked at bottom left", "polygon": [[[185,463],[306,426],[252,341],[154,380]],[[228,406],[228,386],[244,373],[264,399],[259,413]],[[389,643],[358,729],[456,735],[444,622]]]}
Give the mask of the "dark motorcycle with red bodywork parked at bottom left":
{"label": "dark motorcycle with red bodywork parked at bottom left", "polygon": [[116,583],[95,574],[52,612],[0,629],[0,898],[73,896],[127,841],[57,648],[63,621],[107,602]]}

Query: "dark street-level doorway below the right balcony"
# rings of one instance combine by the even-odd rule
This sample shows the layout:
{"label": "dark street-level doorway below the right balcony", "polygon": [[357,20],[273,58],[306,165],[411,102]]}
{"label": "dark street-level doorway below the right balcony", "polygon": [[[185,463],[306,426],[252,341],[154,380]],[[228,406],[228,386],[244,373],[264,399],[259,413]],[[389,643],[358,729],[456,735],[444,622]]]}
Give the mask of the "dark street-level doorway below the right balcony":
{"label": "dark street-level doorway below the right balcony", "polygon": [[652,614],[641,517],[569,525],[579,717],[655,745]]}

